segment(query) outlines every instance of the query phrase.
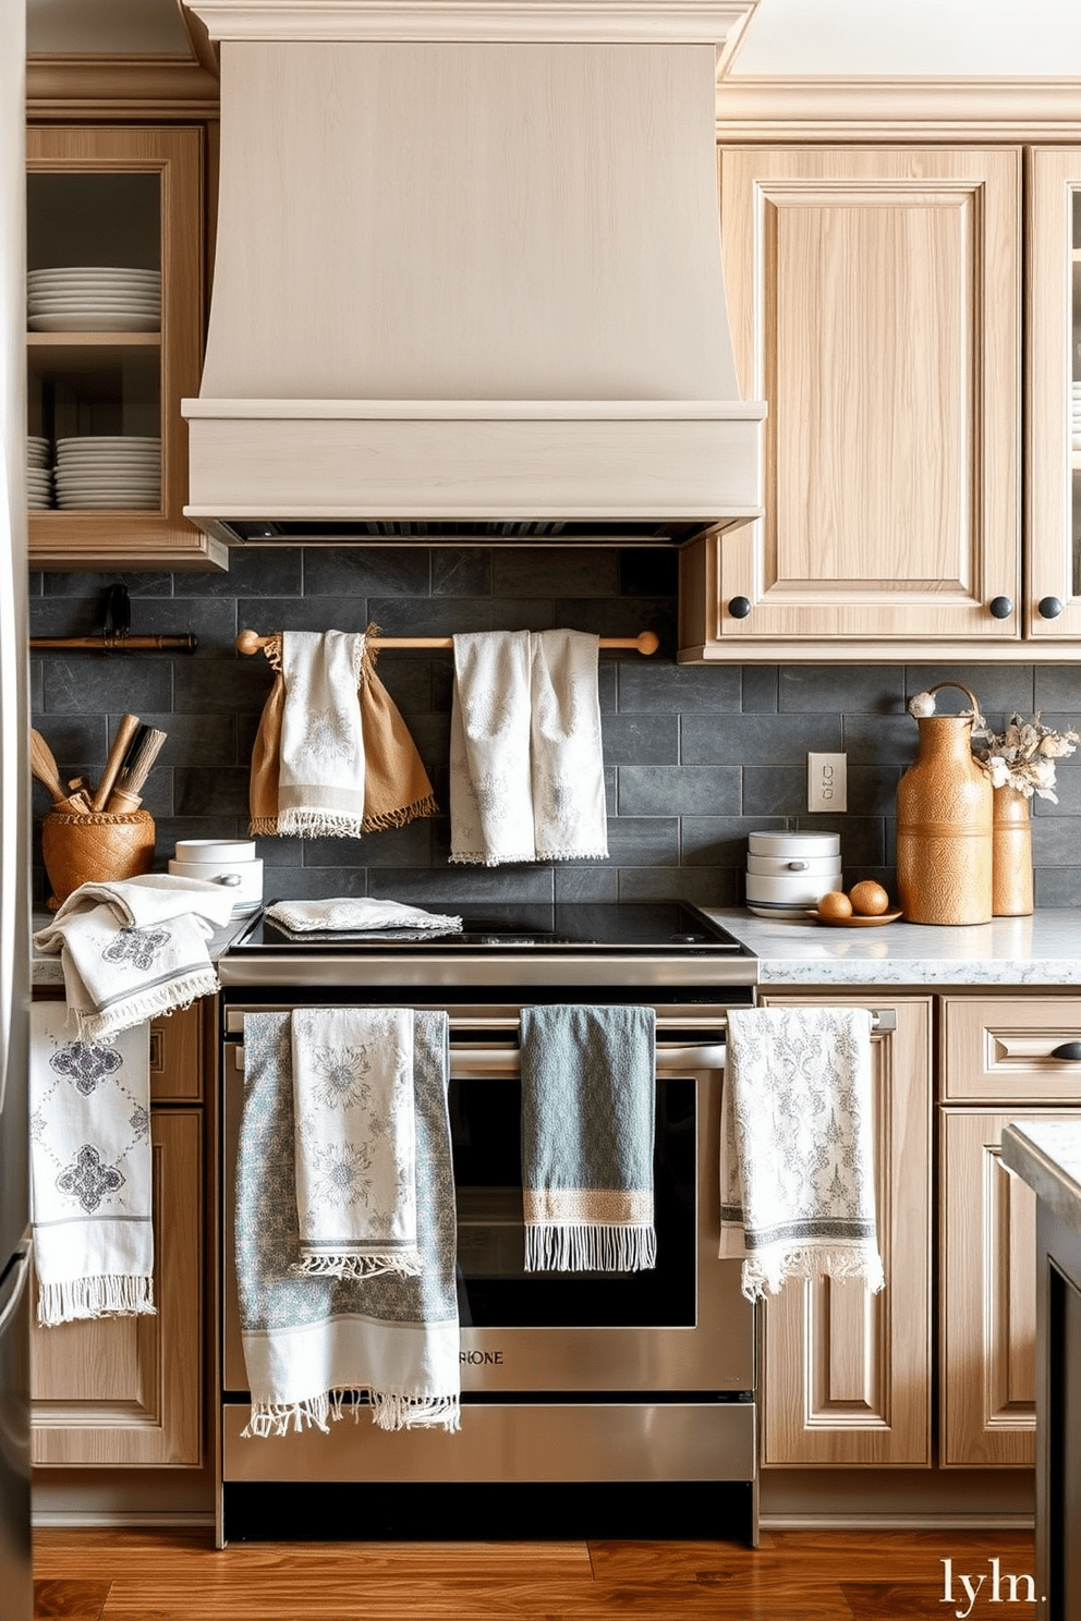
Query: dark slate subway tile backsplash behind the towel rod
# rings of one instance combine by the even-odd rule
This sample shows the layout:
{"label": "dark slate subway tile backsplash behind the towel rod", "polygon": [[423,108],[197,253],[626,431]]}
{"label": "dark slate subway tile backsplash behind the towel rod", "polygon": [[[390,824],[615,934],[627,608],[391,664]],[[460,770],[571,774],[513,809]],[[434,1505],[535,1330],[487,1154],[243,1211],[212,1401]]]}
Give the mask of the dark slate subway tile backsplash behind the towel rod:
{"label": "dark slate subway tile backsplash behind the towel rod", "polygon": [[[194,631],[194,653],[31,655],[34,725],[62,776],[97,778],[120,716],[169,733],[144,804],[157,822],[156,866],[178,838],[248,832],[248,762],[271,669],[233,648],[238,631],[455,631],[570,626],[600,635],[656,631],[652,658],[603,653],[609,859],[554,866],[457,867],[446,815],[352,840],[259,840],[266,893],[378,895],[433,906],[470,900],[590,901],[681,896],[742,901],[747,833],[760,827],[836,830],[844,882],[893,887],[893,806],[916,755],[904,705],[934,681],[969,686],[993,725],[1040,708],[1050,725],[1081,721],[1081,665],[930,666],[676,663],[677,558],[673,551],[392,548],[233,551],[229,574],[32,574],[31,634],[100,629],[105,587],[123,580],[133,631]],[[451,655],[384,652],[379,674],[402,710],[447,804]],[[958,700],[961,695],[958,694]],[[848,752],[848,814],[809,815],[807,751]],[[1058,804],[1034,801],[1040,906],[1081,905],[1081,754],[1058,762]],[[37,822],[49,810],[34,786]],[[36,900],[47,883],[37,854]]]}

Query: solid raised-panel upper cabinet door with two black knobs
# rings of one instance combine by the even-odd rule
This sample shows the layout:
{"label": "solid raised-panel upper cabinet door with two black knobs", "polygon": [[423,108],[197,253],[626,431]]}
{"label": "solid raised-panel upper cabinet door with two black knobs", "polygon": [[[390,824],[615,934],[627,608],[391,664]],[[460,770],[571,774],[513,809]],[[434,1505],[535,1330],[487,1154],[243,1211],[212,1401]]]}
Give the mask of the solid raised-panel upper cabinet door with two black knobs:
{"label": "solid raised-panel upper cabinet door with two black knobs", "polygon": [[1013,149],[723,151],[767,517],[702,543],[707,640],[1019,637],[1019,182]]}

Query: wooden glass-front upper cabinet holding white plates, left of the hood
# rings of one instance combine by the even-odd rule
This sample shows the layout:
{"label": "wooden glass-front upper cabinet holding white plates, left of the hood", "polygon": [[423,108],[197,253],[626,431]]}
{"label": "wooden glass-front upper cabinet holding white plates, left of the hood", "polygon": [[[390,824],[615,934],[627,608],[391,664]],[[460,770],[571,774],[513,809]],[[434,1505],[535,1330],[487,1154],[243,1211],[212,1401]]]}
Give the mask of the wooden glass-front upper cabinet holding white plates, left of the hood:
{"label": "wooden glass-front upper cabinet holding white plates, left of the hood", "polygon": [[207,567],[183,517],[203,353],[199,128],[28,130],[32,567]]}

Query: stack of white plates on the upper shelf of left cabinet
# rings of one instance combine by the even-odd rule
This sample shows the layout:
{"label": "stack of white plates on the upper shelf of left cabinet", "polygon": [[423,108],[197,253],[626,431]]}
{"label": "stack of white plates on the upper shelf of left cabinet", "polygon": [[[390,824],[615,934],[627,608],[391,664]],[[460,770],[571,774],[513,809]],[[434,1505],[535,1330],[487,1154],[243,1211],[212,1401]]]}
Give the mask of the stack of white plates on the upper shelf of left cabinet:
{"label": "stack of white plates on the upper shelf of left cabinet", "polygon": [[160,271],[123,264],[28,271],[26,321],[32,332],[157,332]]}

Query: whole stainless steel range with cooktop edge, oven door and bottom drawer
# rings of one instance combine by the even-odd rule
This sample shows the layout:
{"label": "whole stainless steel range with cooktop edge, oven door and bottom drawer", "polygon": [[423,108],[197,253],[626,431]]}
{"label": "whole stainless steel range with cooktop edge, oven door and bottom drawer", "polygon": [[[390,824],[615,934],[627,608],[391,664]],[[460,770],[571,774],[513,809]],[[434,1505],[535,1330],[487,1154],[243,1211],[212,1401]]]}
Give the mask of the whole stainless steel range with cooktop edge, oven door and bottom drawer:
{"label": "whole stainless steel range with cooktop edge, oven door and bottom drawer", "polygon": [[[514,917],[475,919],[464,937],[442,945],[379,937],[313,947],[277,937],[269,924],[254,926],[246,940],[219,964],[222,1540],[288,1533],[303,1504],[319,1504],[324,1533],[327,1516],[348,1520],[347,1503],[355,1525],[395,1533],[417,1522],[407,1504],[436,1493],[439,1516],[439,1490],[451,1490],[459,1508],[476,1499],[486,1527],[498,1509],[499,1525],[512,1533],[569,1524],[626,1535],[635,1509],[645,1514],[639,1533],[658,1533],[668,1508],[684,1535],[694,1511],[694,1524],[713,1535],[726,1527],[754,1542],[755,1319],[739,1289],[739,1264],[716,1255],[726,1013],[752,999],[754,958],[733,950],[692,908],[656,906],[561,908],[543,930],[515,909]],[[656,1015],[653,1271],[527,1274],[522,1266],[519,1013],[523,1003],[567,1000],[634,1002]],[[246,1012],[313,1003],[449,1013],[462,1323],[457,1435],[387,1435],[344,1423],[331,1435],[241,1436],[248,1394],[230,1188],[243,1021]],[[305,1490],[282,1493],[287,1483]],[[282,1527],[285,1503],[292,1508]],[[553,1520],[553,1508],[569,1519]],[[397,1525],[387,1512],[399,1514]]]}

